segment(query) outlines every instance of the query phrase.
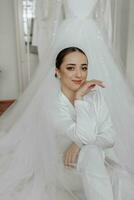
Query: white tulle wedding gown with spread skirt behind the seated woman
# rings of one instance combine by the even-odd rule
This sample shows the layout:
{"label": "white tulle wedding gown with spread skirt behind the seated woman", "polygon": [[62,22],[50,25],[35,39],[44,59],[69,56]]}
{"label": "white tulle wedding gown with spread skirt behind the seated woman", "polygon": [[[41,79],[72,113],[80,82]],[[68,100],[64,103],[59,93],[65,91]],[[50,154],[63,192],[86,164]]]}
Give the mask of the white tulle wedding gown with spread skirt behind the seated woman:
{"label": "white tulle wedding gown with spread skirt behind the seated woman", "polygon": [[[71,191],[64,184],[56,159],[53,119],[58,112],[60,88],[54,77],[54,60],[59,50],[68,46],[78,46],[87,54],[89,79],[104,81],[103,94],[117,131],[118,163],[124,170],[134,171],[133,97],[93,19],[97,0],[50,2],[51,12],[45,16],[49,21],[49,44],[41,40],[43,29],[38,43],[41,66],[24,94],[0,120],[1,200],[83,200],[81,193]],[[61,20],[62,7],[65,17]],[[111,152],[108,154],[112,156]],[[113,182],[116,183],[114,179]],[[131,200],[125,195],[124,199]]]}

